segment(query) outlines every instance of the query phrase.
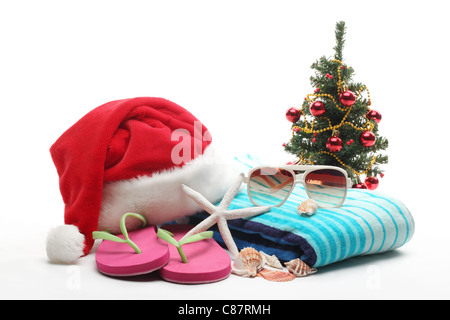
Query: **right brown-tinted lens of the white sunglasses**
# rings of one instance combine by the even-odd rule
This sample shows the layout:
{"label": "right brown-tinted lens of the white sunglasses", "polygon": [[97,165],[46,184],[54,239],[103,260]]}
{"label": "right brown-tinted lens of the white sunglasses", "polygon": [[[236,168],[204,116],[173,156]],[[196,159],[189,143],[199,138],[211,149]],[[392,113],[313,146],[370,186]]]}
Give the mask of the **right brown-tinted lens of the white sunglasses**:
{"label": "right brown-tinted lens of the white sunglasses", "polygon": [[306,175],[305,186],[310,198],[316,200],[320,207],[336,207],[345,198],[347,179],[340,171],[320,169]]}

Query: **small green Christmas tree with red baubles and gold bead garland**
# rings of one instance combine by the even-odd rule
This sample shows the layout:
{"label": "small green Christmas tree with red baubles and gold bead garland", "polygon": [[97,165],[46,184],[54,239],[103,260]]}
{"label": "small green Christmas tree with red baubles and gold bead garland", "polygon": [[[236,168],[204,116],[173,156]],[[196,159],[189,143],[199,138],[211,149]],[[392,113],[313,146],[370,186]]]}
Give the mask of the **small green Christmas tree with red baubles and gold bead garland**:
{"label": "small green Christmas tree with red baubles and gold bead garland", "polygon": [[[286,113],[293,124],[285,150],[296,155],[297,164],[342,167],[353,178],[354,188],[374,190],[377,176],[383,177],[379,165],[388,161],[379,151],[388,147],[388,140],[378,134],[381,114],[371,108],[369,90],[352,82],[354,70],[343,62],[343,21],[336,24],[335,33],[334,58],[323,56],[311,66],[314,93],[306,95],[301,109]],[[366,177],[364,183],[361,176]]]}

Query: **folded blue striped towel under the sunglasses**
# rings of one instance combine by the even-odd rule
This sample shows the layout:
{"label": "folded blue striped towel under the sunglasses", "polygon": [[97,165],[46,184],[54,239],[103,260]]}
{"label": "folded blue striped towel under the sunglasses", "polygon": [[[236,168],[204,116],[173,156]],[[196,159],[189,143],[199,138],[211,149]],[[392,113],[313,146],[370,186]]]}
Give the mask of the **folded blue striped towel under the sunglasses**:
{"label": "folded blue striped towel under the sunglasses", "polygon": [[[261,165],[251,156],[236,158],[241,171]],[[246,185],[236,195],[229,209],[253,206]],[[406,206],[397,199],[368,190],[349,189],[340,208],[319,208],[311,217],[297,213],[307,199],[302,184],[281,207],[274,207],[256,217],[228,220],[228,226],[241,250],[253,247],[281,261],[300,258],[311,267],[321,267],[358,255],[375,254],[403,246],[414,234],[414,220]],[[207,213],[192,217],[197,224]],[[214,238],[224,242],[217,227]]]}

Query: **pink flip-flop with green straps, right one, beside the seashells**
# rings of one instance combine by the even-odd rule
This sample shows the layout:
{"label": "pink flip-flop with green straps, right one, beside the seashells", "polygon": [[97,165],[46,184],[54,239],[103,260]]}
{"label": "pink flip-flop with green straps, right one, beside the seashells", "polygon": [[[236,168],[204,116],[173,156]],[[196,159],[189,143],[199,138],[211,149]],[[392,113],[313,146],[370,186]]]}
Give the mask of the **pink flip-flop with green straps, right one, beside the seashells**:
{"label": "pink flip-flop with green straps, right one, beside the seashells", "polygon": [[160,276],[164,280],[182,284],[226,279],[231,272],[231,259],[212,239],[213,232],[205,231],[182,239],[190,229],[192,226],[174,224],[158,230],[158,237],[173,245],[169,247],[169,262],[159,269]]}

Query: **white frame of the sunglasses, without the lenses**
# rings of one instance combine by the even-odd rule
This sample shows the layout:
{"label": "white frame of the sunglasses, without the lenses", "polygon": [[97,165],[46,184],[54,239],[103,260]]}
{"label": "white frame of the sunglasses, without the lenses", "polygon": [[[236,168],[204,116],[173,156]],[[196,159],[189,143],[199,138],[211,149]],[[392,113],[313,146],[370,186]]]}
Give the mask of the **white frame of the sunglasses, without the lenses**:
{"label": "white frame of the sunglasses, without the lenses", "polygon": [[[330,209],[330,208],[338,208],[338,207],[342,206],[342,204],[344,203],[345,199],[347,198],[348,188],[350,188],[352,186],[352,180],[348,177],[347,171],[345,171],[342,168],[335,167],[335,166],[326,166],[326,165],[318,165],[318,166],[315,166],[315,165],[282,165],[282,166],[266,165],[266,166],[257,166],[257,167],[254,167],[254,168],[250,169],[250,171],[248,172],[248,175],[244,177],[244,182],[247,184],[248,198],[250,199],[250,202],[253,203],[255,206],[261,206],[261,205],[255,203],[253,201],[252,196],[251,196],[250,184],[249,184],[250,177],[251,177],[251,175],[252,175],[252,173],[254,171],[259,170],[259,169],[263,169],[263,168],[275,168],[275,169],[286,170],[286,171],[290,172],[292,174],[292,176],[294,177],[294,182],[293,182],[293,184],[291,186],[291,189],[289,190],[289,193],[287,194],[286,198],[282,202],[280,202],[279,204],[277,204],[275,206],[269,206],[269,207],[281,207],[287,201],[287,199],[289,199],[289,197],[291,196],[291,193],[294,190],[294,187],[295,187],[295,185],[297,183],[302,183],[303,187],[304,187],[304,189],[306,191],[306,194],[308,195],[308,198],[313,199],[311,197],[311,195],[309,194],[308,188],[306,187],[305,177],[309,173],[317,171],[317,170],[331,169],[331,170],[339,171],[340,173],[342,173],[344,175],[345,180],[347,181],[347,184],[345,185],[345,194],[342,197],[341,202],[339,204],[335,205],[335,206],[330,206],[330,207],[328,207],[328,206],[327,207],[322,207],[322,206],[319,205],[320,208]],[[297,173],[295,173],[295,171],[302,171],[302,172],[297,174]]]}

